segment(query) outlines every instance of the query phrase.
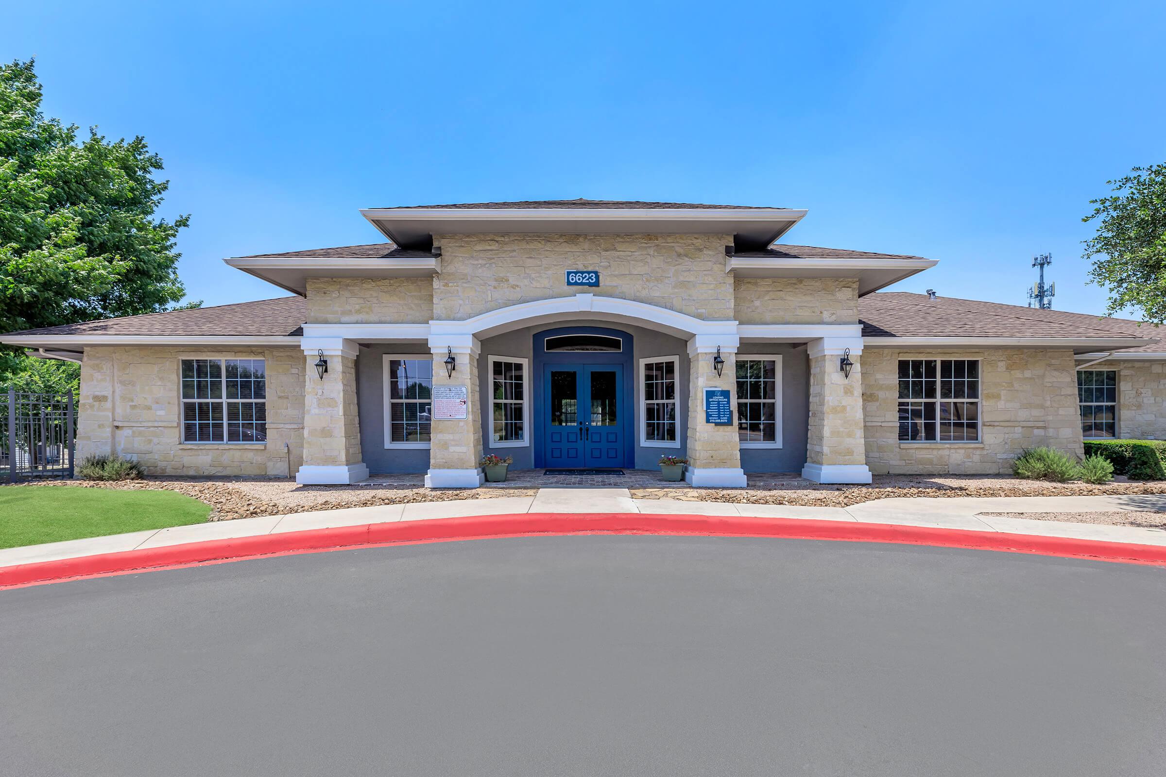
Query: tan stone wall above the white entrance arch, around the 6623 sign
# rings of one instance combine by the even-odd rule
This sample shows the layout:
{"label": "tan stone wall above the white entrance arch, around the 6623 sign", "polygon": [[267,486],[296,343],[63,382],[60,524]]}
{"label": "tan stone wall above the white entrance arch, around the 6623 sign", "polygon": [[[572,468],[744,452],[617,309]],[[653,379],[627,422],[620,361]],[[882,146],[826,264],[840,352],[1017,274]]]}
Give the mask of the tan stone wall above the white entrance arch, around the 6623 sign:
{"label": "tan stone wall above the white entrance arch, around the 6623 sign", "polygon": [[[593,291],[707,320],[733,317],[731,235],[435,235],[434,317],[461,320],[535,299]],[[600,285],[568,287],[567,270],[598,270]]]}

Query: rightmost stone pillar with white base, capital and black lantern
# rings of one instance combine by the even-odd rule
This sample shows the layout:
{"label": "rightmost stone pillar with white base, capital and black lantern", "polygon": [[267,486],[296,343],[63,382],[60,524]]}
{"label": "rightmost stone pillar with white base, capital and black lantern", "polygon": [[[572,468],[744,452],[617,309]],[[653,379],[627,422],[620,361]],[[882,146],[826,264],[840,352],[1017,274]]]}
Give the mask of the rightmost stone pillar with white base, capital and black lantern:
{"label": "rightmost stone pillar with white base, capital and black lantern", "polygon": [[[850,377],[840,368],[850,349]],[[863,435],[862,338],[809,342],[809,432],[802,478],[820,483],[869,483]]]}

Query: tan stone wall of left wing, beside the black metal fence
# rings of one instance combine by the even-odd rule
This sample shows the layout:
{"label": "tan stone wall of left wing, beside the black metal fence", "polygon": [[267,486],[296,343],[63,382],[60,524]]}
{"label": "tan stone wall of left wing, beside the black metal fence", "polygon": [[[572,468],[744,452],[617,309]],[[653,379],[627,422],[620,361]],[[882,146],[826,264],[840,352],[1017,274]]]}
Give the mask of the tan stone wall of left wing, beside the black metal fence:
{"label": "tan stone wall of left wing, beside the black metal fence", "polygon": [[[264,359],[267,443],[182,443],[180,359]],[[149,474],[288,475],[303,444],[304,359],[298,348],[89,347],[80,367],[77,455],[120,453]]]}

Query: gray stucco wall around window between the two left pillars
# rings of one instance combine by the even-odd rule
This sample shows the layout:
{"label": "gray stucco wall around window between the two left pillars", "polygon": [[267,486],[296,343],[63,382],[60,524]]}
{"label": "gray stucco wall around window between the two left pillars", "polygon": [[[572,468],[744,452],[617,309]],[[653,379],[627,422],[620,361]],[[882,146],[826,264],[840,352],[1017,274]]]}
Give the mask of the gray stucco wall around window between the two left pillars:
{"label": "gray stucco wall around window between the two left pillars", "polygon": [[385,447],[386,353],[429,355],[429,346],[415,344],[361,346],[357,354],[357,412],[360,414],[360,455],[373,474],[402,474],[429,469],[428,448]]}

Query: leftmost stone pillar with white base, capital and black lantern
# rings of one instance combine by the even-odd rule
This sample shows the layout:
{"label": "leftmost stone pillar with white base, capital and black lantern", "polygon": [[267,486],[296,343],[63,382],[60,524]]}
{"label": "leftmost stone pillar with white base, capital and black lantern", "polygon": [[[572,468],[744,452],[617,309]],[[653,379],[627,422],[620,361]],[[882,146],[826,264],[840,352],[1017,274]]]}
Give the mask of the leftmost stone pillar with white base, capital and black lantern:
{"label": "leftmost stone pillar with white base, capital and black lantern", "polygon": [[[303,465],[297,483],[337,485],[368,479],[360,460],[357,412],[357,344],[337,338],[303,338]],[[321,377],[316,361],[328,361]]]}

